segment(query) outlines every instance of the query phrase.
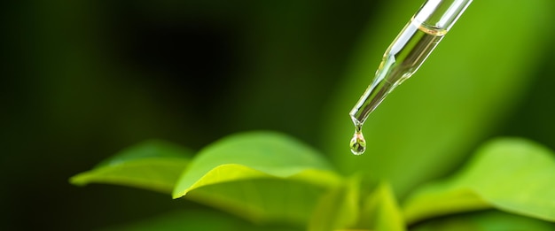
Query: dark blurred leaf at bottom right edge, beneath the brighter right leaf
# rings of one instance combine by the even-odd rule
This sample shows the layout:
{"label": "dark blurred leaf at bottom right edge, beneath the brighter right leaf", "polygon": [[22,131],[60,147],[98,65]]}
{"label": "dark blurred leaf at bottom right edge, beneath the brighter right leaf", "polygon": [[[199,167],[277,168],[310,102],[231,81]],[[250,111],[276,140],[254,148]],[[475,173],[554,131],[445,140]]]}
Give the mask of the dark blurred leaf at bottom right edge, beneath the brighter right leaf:
{"label": "dark blurred leaf at bottom right edge, beneath the brighter right leaf", "polygon": [[413,231],[552,231],[552,223],[515,214],[487,211],[473,212],[442,219],[432,219],[414,227]]}

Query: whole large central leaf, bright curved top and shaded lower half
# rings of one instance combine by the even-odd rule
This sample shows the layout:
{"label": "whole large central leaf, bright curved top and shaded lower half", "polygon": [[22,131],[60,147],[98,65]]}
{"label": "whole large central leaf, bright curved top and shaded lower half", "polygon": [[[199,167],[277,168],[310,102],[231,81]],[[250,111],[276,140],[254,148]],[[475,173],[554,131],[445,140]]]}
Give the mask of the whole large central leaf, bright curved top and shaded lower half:
{"label": "whole large central leaf, bright curved top and shaded lower half", "polygon": [[201,150],[174,197],[254,222],[306,224],[317,199],[341,177],[316,150],[272,132],[231,135]]}

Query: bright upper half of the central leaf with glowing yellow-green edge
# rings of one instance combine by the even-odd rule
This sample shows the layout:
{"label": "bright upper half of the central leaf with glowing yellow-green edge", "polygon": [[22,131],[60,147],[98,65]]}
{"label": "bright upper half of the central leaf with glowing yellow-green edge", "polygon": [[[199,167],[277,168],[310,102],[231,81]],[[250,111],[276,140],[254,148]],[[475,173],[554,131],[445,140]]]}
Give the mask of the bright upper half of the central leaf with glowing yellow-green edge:
{"label": "bright upper half of the central leaf with glowing yellow-green edge", "polygon": [[173,196],[215,183],[256,178],[288,178],[323,187],[340,181],[316,150],[285,135],[250,132],[201,150],[180,177]]}

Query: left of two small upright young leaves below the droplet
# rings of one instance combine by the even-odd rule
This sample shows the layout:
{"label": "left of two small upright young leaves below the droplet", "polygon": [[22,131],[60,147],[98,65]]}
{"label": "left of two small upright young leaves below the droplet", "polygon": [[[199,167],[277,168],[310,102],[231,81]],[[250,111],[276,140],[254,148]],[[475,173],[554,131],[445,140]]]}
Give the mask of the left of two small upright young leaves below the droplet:
{"label": "left of two small upright young leaves below the droplet", "polygon": [[355,177],[322,196],[310,219],[309,231],[354,227],[360,210],[359,187],[360,179]]}

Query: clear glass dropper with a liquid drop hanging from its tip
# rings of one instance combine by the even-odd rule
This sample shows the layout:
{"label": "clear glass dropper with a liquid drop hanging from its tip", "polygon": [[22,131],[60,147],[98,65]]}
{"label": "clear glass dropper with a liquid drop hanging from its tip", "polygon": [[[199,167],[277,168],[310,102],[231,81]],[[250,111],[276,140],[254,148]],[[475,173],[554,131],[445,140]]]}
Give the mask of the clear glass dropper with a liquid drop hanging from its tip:
{"label": "clear glass dropper with a liquid drop hanging from its tip", "polygon": [[371,84],[349,113],[355,124],[350,142],[355,155],[366,149],[362,127],[368,115],[395,87],[418,70],[472,0],[427,0],[389,45]]}

